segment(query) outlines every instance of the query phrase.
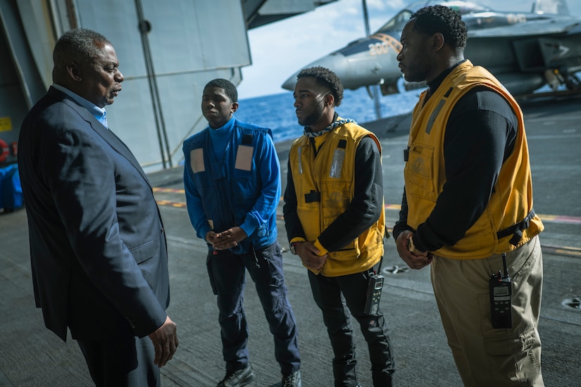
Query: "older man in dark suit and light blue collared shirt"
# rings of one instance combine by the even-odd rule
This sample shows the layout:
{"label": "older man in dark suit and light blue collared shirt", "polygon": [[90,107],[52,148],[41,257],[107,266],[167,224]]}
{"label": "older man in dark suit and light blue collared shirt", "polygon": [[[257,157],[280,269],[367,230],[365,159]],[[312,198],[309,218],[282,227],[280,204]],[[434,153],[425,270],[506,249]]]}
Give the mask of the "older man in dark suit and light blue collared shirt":
{"label": "older man in dark suit and light blue collared shirt", "polygon": [[75,29],[53,58],[18,152],[35,300],[48,329],[63,340],[70,329],[96,386],[160,386],[178,345],[167,248],[149,181],[106,125],[123,82],[117,55]]}

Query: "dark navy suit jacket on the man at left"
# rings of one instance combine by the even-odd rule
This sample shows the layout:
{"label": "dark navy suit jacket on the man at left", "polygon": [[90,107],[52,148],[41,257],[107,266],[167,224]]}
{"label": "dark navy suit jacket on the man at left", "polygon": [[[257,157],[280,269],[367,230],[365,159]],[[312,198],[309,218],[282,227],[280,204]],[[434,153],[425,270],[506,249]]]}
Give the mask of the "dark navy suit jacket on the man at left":
{"label": "dark navy suit jacket on the man at left", "polygon": [[143,337],[165,321],[168,258],[149,181],[130,150],[51,87],[20,129],[32,280],[63,340]]}

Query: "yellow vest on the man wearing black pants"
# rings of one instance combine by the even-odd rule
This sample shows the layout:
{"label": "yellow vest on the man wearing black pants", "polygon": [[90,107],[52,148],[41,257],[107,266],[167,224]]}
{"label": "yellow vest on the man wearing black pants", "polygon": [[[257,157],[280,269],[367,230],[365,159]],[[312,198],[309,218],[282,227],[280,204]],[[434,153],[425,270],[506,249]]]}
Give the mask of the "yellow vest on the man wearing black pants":
{"label": "yellow vest on the man wearing black pants", "polygon": [[[329,132],[317,157],[308,137],[299,137],[292,144],[289,160],[296,192],[296,212],[307,241],[314,243],[349,207],[355,189],[355,153],[363,137],[374,139],[381,152],[375,134],[354,122]],[[310,192],[320,192],[320,201],[307,203],[305,194]],[[381,200],[383,209],[383,198]],[[320,273],[325,277],[337,277],[373,267],[382,258],[384,234],[385,210],[382,210],[379,220],[357,239],[339,251],[328,253]]]}

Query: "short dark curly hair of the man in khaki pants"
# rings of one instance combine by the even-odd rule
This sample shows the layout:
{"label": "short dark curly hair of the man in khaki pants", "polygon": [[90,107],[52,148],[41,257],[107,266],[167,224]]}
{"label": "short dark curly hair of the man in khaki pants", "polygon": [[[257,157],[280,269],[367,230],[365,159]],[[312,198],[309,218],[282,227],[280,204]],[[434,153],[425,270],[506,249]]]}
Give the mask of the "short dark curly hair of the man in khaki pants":
{"label": "short dark curly hair of the man in khaki pants", "polygon": [[413,30],[421,34],[433,35],[437,32],[444,36],[444,42],[455,51],[466,47],[468,30],[459,13],[446,6],[427,6],[418,9],[410,17],[416,19]]}

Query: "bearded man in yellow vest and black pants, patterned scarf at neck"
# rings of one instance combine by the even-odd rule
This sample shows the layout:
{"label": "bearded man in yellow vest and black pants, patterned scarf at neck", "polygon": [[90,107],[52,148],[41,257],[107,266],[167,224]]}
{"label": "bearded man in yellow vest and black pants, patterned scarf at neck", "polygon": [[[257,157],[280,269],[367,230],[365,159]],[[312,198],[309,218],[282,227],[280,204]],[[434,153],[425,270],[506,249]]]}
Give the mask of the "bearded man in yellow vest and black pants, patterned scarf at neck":
{"label": "bearded man in yellow vest and black pants, patterned scarf at neck", "polygon": [[342,99],[341,81],[327,68],[297,75],[294,107],[305,129],[289,153],[285,226],[323,312],[335,386],[359,386],[352,315],[368,343],[373,385],[389,387],[394,362],[385,319],[380,309],[365,308],[383,256],[381,145],[375,134],[337,115]]}

